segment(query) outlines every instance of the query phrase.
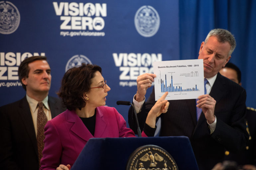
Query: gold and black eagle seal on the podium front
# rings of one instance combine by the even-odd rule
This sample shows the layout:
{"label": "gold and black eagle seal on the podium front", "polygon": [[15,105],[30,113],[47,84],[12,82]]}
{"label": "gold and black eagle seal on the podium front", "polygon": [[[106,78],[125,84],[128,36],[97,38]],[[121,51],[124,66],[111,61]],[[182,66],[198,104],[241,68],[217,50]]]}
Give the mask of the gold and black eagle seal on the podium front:
{"label": "gold and black eagle seal on the podium front", "polygon": [[156,145],[137,148],[129,157],[126,170],[178,170],[173,157]]}

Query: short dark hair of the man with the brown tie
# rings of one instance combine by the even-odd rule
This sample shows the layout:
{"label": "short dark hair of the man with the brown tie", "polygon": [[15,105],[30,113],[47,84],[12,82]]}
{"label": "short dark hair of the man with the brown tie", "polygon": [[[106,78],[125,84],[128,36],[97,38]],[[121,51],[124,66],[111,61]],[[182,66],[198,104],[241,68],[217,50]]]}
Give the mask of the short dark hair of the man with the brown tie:
{"label": "short dark hair of the man with the brown tie", "polygon": [[32,63],[36,60],[45,60],[47,61],[47,58],[45,56],[31,56],[31,57],[28,57],[26,58],[25,60],[23,60],[21,62],[21,65],[18,69],[18,76],[19,76],[19,80],[22,84],[22,87],[26,89],[26,85],[24,85],[22,83],[22,79],[25,77],[25,78],[28,78],[29,77],[29,71],[30,71],[30,68],[29,68],[29,63]]}

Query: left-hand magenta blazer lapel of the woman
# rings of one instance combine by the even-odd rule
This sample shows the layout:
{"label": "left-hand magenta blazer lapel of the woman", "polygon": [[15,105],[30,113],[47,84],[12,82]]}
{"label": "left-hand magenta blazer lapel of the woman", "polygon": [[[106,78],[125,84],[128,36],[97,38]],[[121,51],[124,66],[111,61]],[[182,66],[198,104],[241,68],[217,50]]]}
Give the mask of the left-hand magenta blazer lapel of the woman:
{"label": "left-hand magenta blazer lapel of the woman", "polygon": [[81,139],[88,141],[90,138],[93,138],[90,131],[85,127],[83,121],[77,116],[74,110],[66,111],[67,122],[73,123],[70,130],[75,133]]}

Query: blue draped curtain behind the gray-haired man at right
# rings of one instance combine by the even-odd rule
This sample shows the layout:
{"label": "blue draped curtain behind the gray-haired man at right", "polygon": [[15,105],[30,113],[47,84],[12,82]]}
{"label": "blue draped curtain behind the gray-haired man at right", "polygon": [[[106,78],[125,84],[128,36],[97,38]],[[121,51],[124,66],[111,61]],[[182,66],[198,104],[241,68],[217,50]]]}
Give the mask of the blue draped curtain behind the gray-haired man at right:
{"label": "blue draped curtain behind the gray-haired man at right", "polygon": [[256,1],[180,0],[179,17],[181,59],[197,59],[211,29],[227,29],[235,36],[237,46],[230,62],[242,72],[246,105],[256,108]]}

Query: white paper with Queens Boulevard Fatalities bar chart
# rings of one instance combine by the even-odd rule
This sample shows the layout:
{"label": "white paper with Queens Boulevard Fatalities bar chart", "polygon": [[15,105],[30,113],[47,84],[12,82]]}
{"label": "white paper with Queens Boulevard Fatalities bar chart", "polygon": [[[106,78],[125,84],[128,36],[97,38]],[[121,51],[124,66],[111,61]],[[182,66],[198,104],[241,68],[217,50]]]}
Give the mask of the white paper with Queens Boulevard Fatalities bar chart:
{"label": "white paper with Queens Boulevard Fatalities bar chart", "polygon": [[166,91],[166,100],[195,99],[204,93],[203,59],[153,63],[155,100]]}

